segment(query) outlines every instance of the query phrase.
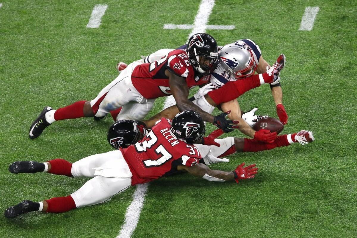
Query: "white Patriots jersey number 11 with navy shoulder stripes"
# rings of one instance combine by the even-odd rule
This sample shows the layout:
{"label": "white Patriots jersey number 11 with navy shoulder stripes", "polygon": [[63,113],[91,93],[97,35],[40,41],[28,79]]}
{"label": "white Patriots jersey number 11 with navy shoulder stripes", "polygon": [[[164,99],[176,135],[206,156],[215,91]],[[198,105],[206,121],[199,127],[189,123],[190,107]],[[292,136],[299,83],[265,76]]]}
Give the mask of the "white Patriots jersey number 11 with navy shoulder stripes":
{"label": "white Patriots jersey number 11 with navy shoulder stripes", "polygon": [[[250,39],[242,39],[242,40],[237,40],[232,44],[250,48],[253,52],[254,61],[258,65],[261,56],[261,51],[259,46],[255,44],[254,41]],[[220,88],[221,86],[225,85],[227,82],[235,81],[235,80],[236,79],[234,78],[233,75],[230,75],[223,70],[221,64],[218,64],[217,69],[213,71],[210,78],[212,85],[215,86],[216,88]]]}

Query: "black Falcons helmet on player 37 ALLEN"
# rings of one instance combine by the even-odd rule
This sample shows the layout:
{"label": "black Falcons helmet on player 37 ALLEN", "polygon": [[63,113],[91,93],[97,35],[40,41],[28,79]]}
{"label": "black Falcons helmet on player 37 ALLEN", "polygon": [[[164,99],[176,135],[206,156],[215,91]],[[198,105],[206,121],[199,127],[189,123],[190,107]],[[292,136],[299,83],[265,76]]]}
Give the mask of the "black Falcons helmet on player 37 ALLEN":
{"label": "black Falcons helmet on player 37 ALLEN", "polygon": [[170,130],[177,138],[186,140],[190,144],[202,139],[206,133],[205,123],[200,114],[193,110],[178,113],[172,119]]}

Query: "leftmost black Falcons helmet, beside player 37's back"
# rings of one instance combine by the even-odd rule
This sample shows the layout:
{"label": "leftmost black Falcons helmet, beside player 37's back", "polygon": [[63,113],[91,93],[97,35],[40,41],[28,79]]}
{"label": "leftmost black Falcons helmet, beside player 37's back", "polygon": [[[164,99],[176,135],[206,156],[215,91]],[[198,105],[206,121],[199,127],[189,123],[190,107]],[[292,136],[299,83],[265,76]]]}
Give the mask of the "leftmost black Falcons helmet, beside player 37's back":
{"label": "leftmost black Falcons helmet, beside player 37's back", "polygon": [[147,129],[143,122],[135,120],[119,120],[110,126],[107,139],[112,147],[120,149],[135,144],[146,134]]}

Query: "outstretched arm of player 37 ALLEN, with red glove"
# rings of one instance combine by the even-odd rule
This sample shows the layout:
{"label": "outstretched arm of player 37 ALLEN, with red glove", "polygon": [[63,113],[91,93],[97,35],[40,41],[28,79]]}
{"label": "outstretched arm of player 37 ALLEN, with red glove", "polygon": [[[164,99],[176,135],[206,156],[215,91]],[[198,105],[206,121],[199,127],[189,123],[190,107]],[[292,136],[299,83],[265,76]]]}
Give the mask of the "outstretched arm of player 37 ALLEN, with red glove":
{"label": "outstretched arm of player 37 ALLEN, with red glove", "polygon": [[233,171],[221,171],[221,170],[213,170],[208,168],[207,165],[198,163],[192,167],[186,167],[179,165],[177,167],[178,170],[185,170],[188,173],[192,174],[195,177],[203,178],[208,181],[215,182],[225,182],[229,180],[238,180],[240,179],[251,179],[255,177],[255,174],[258,173],[258,168],[255,167],[255,164],[248,165],[247,167],[243,167],[244,163],[240,164]]}

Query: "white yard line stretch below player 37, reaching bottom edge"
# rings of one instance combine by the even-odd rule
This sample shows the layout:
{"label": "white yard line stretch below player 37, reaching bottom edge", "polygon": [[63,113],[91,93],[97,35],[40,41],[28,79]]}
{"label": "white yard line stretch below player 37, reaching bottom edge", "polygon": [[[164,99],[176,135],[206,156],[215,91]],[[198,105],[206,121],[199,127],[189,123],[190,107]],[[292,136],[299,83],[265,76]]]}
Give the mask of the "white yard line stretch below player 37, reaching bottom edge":
{"label": "white yard line stretch below player 37, reaching bottom edge", "polygon": [[136,185],[133,201],[126,209],[124,224],[116,238],[130,238],[131,234],[134,232],[136,225],[139,222],[140,212],[145,201],[148,186],[148,183]]}

